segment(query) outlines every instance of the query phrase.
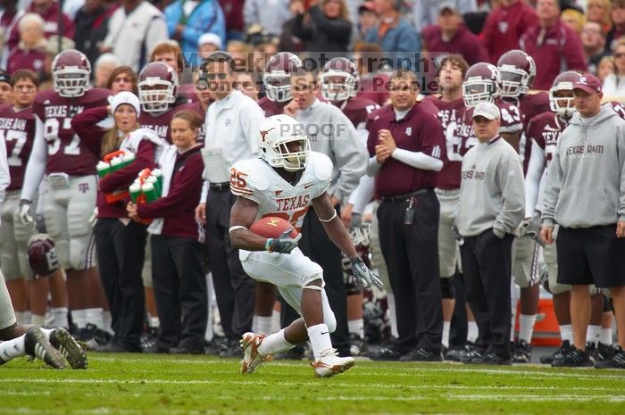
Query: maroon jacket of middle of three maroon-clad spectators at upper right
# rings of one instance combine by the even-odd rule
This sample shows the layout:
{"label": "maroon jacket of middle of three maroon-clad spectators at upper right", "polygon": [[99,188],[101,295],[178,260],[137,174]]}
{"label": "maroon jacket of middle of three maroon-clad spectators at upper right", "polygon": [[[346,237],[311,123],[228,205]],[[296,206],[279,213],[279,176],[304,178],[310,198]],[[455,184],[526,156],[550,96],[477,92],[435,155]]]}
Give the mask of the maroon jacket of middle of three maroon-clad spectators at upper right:
{"label": "maroon jacket of middle of three maroon-clad spectators at upper right", "polygon": [[519,49],[519,38],[537,22],[536,12],[524,0],[511,6],[500,5],[490,12],[481,33],[490,62],[496,65],[502,54]]}

